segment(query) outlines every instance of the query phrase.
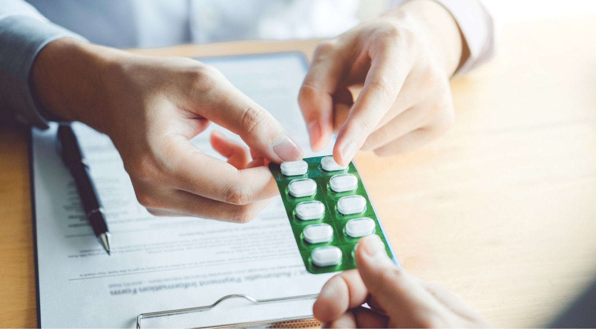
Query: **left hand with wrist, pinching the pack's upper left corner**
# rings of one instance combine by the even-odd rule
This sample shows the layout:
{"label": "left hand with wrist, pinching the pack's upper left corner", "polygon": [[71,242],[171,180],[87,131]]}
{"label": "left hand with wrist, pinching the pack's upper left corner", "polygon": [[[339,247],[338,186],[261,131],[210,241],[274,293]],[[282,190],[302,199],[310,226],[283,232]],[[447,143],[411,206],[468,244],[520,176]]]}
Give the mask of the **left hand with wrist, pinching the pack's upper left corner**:
{"label": "left hand with wrist, pinching the pack's upper left corner", "polygon": [[[265,160],[302,159],[302,149],[264,108],[213,67],[190,58],[134,55],[59,39],[33,67],[45,109],[110,136],[139,202],[154,215],[247,222],[278,194]],[[250,147],[211,135],[228,163],[189,140],[209,122]]]}

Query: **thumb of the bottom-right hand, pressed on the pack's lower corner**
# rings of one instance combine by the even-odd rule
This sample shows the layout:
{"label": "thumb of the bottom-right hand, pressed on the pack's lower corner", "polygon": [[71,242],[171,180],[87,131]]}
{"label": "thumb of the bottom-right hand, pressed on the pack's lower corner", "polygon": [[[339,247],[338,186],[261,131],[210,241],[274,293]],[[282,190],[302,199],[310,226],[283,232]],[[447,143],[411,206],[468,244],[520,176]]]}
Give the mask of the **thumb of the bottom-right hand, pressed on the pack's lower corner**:
{"label": "thumb of the bottom-right hand, pressed on the pack's lower corner", "polygon": [[356,263],[371,298],[389,316],[395,310],[420,311],[432,305],[433,299],[428,291],[387,257],[385,244],[378,235],[368,235],[360,240]]}

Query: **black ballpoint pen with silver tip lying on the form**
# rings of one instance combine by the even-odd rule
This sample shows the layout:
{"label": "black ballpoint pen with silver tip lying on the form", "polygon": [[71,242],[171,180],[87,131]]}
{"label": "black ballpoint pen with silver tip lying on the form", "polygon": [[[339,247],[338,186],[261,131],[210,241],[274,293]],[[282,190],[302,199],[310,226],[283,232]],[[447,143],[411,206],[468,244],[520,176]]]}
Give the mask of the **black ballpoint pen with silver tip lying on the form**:
{"label": "black ballpoint pen with silver tip lying on the form", "polygon": [[58,150],[64,165],[75,178],[76,189],[79,192],[89,224],[105,251],[110,254],[110,232],[105,222],[104,208],[101,206],[97,190],[95,190],[95,185],[89,175],[89,167],[85,163],[79,142],[70,125],[58,127]]}

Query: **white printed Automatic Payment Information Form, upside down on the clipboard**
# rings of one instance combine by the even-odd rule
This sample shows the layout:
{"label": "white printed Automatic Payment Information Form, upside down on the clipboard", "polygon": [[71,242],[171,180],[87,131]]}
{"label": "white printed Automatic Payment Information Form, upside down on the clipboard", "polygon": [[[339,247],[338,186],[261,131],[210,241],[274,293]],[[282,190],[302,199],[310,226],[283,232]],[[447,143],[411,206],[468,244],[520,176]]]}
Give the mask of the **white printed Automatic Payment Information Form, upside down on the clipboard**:
{"label": "white printed Automatic Payment Information Form, upside down on the clipboard", "polygon": [[[302,55],[204,61],[271,111],[303,147],[305,157],[331,153],[331,145],[321,153],[310,151],[296,101],[306,72]],[[209,145],[214,126],[193,142],[216,156]],[[82,124],[74,128],[107,211],[112,254],[105,253],[87,224],[73,178],[55,147],[57,126],[45,131],[33,129],[42,327],[134,327],[141,313],[209,305],[235,293],[257,299],[313,294],[330,278],[330,274],[306,272],[281,197],[248,224],[152,216],[136,201],[110,139]],[[147,319],[143,325],[195,327],[301,316],[312,314],[312,303],[303,300],[257,306],[235,300],[212,311]]]}

